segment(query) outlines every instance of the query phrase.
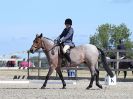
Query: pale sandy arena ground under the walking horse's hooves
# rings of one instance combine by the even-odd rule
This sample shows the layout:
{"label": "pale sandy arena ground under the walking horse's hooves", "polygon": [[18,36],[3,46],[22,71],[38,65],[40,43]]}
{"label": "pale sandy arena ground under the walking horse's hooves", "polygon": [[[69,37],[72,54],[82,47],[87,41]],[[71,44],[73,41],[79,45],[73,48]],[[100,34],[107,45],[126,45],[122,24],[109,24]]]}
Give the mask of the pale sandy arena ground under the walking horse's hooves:
{"label": "pale sandy arena ground under the walking horse's hooves", "polygon": [[[50,81],[59,82],[59,81]],[[106,86],[103,89],[93,86],[86,90],[88,80],[78,80],[77,84],[68,84],[67,89],[61,89],[61,84],[48,84],[46,89],[40,89],[42,83],[31,84],[1,84],[0,99],[133,99],[133,82],[118,82],[116,86]]]}

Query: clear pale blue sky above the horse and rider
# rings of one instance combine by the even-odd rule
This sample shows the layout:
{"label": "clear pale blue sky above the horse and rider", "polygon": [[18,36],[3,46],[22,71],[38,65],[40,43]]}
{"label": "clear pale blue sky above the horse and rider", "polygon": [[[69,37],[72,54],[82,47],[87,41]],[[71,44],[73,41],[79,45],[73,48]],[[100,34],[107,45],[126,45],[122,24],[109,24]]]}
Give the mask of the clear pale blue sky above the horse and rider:
{"label": "clear pale blue sky above the horse and rider", "polygon": [[0,0],[0,55],[28,50],[37,33],[54,40],[66,18],[76,45],[89,43],[105,23],[125,23],[133,32],[132,9],[133,0]]}

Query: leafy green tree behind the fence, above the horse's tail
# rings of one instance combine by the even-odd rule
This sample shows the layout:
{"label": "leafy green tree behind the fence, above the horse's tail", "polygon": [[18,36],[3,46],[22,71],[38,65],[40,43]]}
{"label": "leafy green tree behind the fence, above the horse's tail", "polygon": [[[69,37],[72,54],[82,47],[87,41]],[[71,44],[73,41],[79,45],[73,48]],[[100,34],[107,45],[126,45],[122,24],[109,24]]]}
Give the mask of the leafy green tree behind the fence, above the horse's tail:
{"label": "leafy green tree behind the fence, above the horse's tail", "polygon": [[90,43],[102,49],[112,49],[116,48],[122,39],[127,49],[131,49],[133,44],[129,39],[130,36],[131,32],[124,23],[118,26],[107,23],[98,26],[96,33],[90,36]]}

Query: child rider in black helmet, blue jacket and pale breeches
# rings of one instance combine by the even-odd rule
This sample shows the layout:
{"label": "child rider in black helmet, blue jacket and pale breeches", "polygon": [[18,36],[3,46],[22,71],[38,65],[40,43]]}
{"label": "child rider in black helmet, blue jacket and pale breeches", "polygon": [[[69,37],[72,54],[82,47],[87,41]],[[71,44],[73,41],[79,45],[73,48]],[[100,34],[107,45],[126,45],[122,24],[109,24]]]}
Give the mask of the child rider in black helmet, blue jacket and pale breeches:
{"label": "child rider in black helmet, blue jacket and pale breeches", "polygon": [[70,58],[70,51],[69,51],[69,49],[71,47],[74,47],[75,45],[72,42],[74,30],[71,27],[72,26],[72,20],[70,18],[65,20],[65,26],[66,26],[65,29],[57,37],[55,42],[63,44],[63,53],[64,53],[64,56],[66,57],[68,62],[71,64],[71,58]]}

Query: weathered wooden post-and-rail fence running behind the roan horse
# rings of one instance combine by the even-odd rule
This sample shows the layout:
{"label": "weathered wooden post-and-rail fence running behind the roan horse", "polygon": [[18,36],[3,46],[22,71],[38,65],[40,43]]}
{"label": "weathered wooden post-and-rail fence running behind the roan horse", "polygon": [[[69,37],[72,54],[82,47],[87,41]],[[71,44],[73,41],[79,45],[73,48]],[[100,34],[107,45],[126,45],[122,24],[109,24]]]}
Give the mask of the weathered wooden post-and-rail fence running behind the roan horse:
{"label": "weathered wooden post-and-rail fence running behind the roan horse", "polygon": [[[119,53],[120,52],[133,52],[133,50],[104,50],[105,53],[107,52],[115,52],[116,53],[116,59],[107,59],[107,62],[116,62],[116,67],[115,69],[111,69],[112,71],[116,72],[117,71],[133,71],[133,69],[119,69],[119,62],[133,62],[133,59],[120,59]],[[27,75],[30,75],[30,69],[37,69],[38,70],[38,75],[40,76],[40,70],[41,69],[48,69],[48,67],[41,67],[41,61],[40,61],[40,56],[41,56],[42,51],[38,52],[38,67],[29,67],[27,71]],[[44,53],[43,53],[44,54]],[[28,60],[30,58],[30,53],[28,53]],[[87,67],[63,67],[62,70],[70,70],[73,69],[76,71],[76,77],[77,77],[77,70],[88,70]],[[104,69],[99,69],[100,71],[105,71]]]}

